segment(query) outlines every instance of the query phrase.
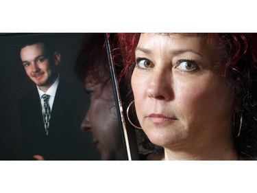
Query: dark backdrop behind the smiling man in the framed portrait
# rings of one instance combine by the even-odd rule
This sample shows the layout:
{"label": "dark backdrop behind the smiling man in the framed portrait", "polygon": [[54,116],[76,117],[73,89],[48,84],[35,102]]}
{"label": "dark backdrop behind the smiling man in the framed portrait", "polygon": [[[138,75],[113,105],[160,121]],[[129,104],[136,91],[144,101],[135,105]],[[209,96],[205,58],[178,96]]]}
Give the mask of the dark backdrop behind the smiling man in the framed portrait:
{"label": "dark backdrop behind the smiling man in the framed portrait", "polygon": [[[19,99],[35,87],[27,77],[17,43],[28,34],[0,34],[0,159],[21,159],[22,143],[19,128]],[[32,35],[32,34],[29,34]],[[85,34],[50,35],[59,48],[62,61],[60,76],[84,89],[73,73],[73,66]]]}

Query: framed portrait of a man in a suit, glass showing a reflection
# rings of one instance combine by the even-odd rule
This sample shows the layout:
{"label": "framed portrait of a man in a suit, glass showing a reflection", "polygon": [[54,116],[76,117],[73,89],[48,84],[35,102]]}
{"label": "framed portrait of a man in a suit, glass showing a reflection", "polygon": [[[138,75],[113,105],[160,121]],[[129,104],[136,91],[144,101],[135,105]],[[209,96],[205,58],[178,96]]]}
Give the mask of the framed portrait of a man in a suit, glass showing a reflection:
{"label": "framed portrait of a man in a suit, glass showing a reflection", "polygon": [[110,41],[104,33],[0,34],[1,160],[140,159]]}

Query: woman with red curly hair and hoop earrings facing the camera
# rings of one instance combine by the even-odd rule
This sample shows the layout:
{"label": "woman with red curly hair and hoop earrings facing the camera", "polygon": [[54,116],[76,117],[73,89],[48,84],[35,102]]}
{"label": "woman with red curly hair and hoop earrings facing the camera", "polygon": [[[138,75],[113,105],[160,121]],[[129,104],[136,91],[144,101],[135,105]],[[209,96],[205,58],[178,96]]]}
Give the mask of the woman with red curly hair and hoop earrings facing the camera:
{"label": "woman with red curly hair and hoop earrings facing the camera", "polygon": [[133,91],[128,111],[135,106],[165,160],[255,159],[256,34],[117,38]]}

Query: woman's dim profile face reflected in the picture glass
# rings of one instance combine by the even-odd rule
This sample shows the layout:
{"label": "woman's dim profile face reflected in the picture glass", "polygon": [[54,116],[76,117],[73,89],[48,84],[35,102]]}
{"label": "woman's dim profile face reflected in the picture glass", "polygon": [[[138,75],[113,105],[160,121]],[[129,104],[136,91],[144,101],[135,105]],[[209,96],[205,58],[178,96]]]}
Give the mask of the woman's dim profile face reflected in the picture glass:
{"label": "woman's dim profile face reflected in the picture glass", "polygon": [[82,130],[93,133],[93,142],[101,152],[101,159],[123,159],[112,82],[110,78],[99,81],[91,75],[89,73],[84,84],[86,92],[90,94],[90,108],[82,122]]}

